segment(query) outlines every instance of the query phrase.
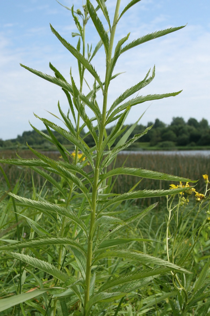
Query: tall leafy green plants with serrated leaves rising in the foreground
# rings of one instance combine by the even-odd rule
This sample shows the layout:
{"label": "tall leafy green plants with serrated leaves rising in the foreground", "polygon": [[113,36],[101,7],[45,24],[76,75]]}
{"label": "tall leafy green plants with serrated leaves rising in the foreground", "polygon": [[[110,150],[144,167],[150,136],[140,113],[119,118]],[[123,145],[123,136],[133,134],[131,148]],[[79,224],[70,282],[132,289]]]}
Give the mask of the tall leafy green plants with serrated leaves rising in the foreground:
{"label": "tall leafy green plants with serrated leaves rising in the foreground", "polygon": [[[40,194],[36,195],[36,192],[33,194],[32,199],[20,197],[12,192],[8,193],[11,197],[16,199],[16,206],[21,214],[24,210],[32,209],[33,212],[36,212],[36,215],[40,214],[40,216],[44,216],[49,223],[54,223],[54,226],[52,225],[54,228],[52,228],[50,232],[46,231],[46,229],[43,229],[36,221],[31,220],[28,214],[27,216],[24,215],[39,238],[22,240],[8,246],[3,246],[2,249],[8,256],[22,261],[25,267],[30,266],[29,271],[31,271],[31,273],[34,273],[33,268],[43,271],[46,279],[50,281],[50,286],[53,287],[54,290],[52,293],[52,289],[50,289],[48,285],[45,288],[41,276],[36,275],[37,283],[41,288],[44,288],[42,291],[49,291],[49,294],[44,296],[43,301],[40,301],[40,306],[30,301],[32,297],[40,295],[41,293],[35,290],[33,292],[34,294],[19,294],[15,300],[14,297],[2,299],[0,311],[18,303],[22,304],[22,302],[27,300],[27,304],[31,304],[30,306],[37,308],[43,315],[74,314],[96,316],[105,310],[109,302],[121,299],[115,313],[117,314],[123,297],[150,282],[153,276],[170,273],[170,271],[174,271],[174,273],[189,272],[183,267],[160,258],[152,257],[146,253],[128,248],[121,249],[120,245],[133,241],[133,239],[115,239],[116,232],[126,228],[134,221],[139,221],[147,212],[156,206],[156,204],[150,205],[150,207],[133,216],[129,216],[128,214],[128,217],[122,220],[118,217],[120,211],[117,209],[117,206],[123,201],[145,197],[167,196],[184,191],[186,188],[133,191],[135,188],[133,187],[129,192],[115,194],[111,192],[111,187],[113,181],[115,181],[113,177],[117,177],[120,174],[138,176],[140,179],[149,178],[184,182],[190,180],[155,171],[143,170],[141,168],[120,167],[113,168],[109,172],[107,169],[111,161],[116,159],[116,155],[120,151],[128,148],[133,142],[144,136],[152,127],[148,127],[143,133],[136,134],[133,138],[129,139],[133,128],[137,124],[136,122],[133,128],[130,128],[128,132],[120,138],[124,131],[124,129],[122,129],[123,123],[131,107],[149,100],[176,96],[181,92],[138,96],[127,101],[126,99],[128,97],[140,91],[153,80],[155,76],[154,67],[151,75],[149,70],[143,80],[124,91],[116,98],[113,104],[109,106],[107,104],[108,88],[111,84],[111,80],[118,75],[113,75],[118,58],[122,53],[135,46],[177,31],[183,26],[147,34],[125,44],[129,38],[128,33],[128,35],[120,39],[116,47],[113,48],[116,27],[119,20],[122,19],[128,9],[140,0],[132,0],[121,13],[119,12],[120,0],[117,0],[112,23],[105,1],[96,1],[98,6],[94,8],[92,3],[87,0],[87,3],[83,5],[83,13],[80,10],[75,11],[73,6],[71,9],[67,8],[71,10],[78,29],[78,33],[72,33],[73,37],[79,37],[77,47],[68,43],[60,36],[54,27],[50,26],[52,32],[61,44],[77,59],[80,76],[79,87],[77,87],[74,81],[71,70],[70,82],[67,82],[51,63],[50,68],[54,71],[55,76],[43,74],[40,71],[33,70],[21,64],[22,67],[30,72],[62,88],[69,102],[69,112],[71,111],[73,122],[70,119],[69,112],[65,115],[58,103],[60,115],[66,129],[54,124],[48,119],[39,118],[37,115],[36,117],[43,121],[46,126],[48,134],[37,130],[31,125],[39,134],[57,146],[62,159],[52,160],[28,146],[31,152],[37,156],[37,159],[21,159],[19,157],[18,159],[1,160],[3,163],[28,166],[35,172],[41,174],[54,186],[58,198],[56,200],[54,199],[54,203],[52,203],[52,199],[51,202],[47,200],[47,195],[43,197]],[[100,21],[97,10],[102,11],[107,23],[106,26]],[[92,46],[88,45],[86,57],[85,26],[89,18],[91,18],[100,40],[93,52],[91,52]],[[82,21],[82,23],[80,21]],[[109,32],[106,31],[107,28]],[[104,81],[100,79],[97,71],[91,64],[93,57],[101,46],[103,46],[105,50],[106,58]],[[87,95],[82,92],[85,71],[88,71],[94,78],[93,89],[91,89]],[[96,94],[99,90],[101,90],[103,94],[102,112],[96,100]],[[86,112],[87,107],[93,111],[93,118],[88,117]],[[81,119],[84,122],[82,125],[80,124]],[[96,125],[93,124],[94,121]],[[107,124],[114,121],[116,124],[111,133],[107,135]],[[75,125],[76,129],[74,127]],[[92,148],[89,148],[85,143],[85,137],[82,138],[80,136],[85,126],[88,129],[85,137],[91,135],[94,139],[95,145]],[[70,153],[54,136],[51,129],[68,139],[69,142],[75,146],[75,153]],[[117,137],[119,137],[118,139],[120,140],[116,146],[112,148]],[[87,164],[91,166],[91,172],[89,173],[84,169]],[[52,173],[60,176],[61,181],[59,183],[54,180],[51,175]],[[59,195],[61,196],[60,199]],[[74,206],[72,206],[72,204]],[[52,250],[49,250],[50,246],[53,247],[54,255],[52,255]],[[116,247],[115,249],[113,249],[114,246]],[[10,251],[12,249],[25,248],[31,249],[31,251],[28,252],[29,255],[24,253],[24,251]],[[51,263],[47,262],[43,249],[46,249],[51,258]],[[42,253],[42,255],[40,255],[40,253]],[[125,261],[124,269],[121,271],[116,270],[116,268],[113,269],[111,258],[116,257],[123,258],[123,260],[129,259],[136,261],[136,269],[131,271],[128,261]],[[155,265],[154,268],[150,267],[151,263]],[[142,269],[141,266],[144,268]]]}

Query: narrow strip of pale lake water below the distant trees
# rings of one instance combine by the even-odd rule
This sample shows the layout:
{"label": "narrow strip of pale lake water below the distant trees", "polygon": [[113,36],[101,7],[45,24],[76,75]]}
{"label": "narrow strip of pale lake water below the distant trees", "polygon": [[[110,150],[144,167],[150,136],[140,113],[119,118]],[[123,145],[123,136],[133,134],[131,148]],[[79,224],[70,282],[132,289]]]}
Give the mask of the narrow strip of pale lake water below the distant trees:
{"label": "narrow strip of pale lake water below the distant trees", "polygon": [[210,150],[138,150],[121,151],[120,154],[128,155],[181,155],[181,156],[210,156]]}

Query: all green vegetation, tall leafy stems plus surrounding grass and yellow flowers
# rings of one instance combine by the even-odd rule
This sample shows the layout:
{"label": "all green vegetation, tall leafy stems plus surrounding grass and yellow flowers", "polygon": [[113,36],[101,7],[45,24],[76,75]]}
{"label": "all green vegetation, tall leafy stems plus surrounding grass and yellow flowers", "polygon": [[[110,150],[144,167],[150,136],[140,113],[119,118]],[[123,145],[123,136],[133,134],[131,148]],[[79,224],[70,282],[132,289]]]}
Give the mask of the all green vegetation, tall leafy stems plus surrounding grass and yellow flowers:
{"label": "all green vegetation, tall leafy stems plus surrounding grass and yellow flowers", "polygon": [[[28,144],[32,157],[0,159],[2,164],[12,166],[7,170],[0,166],[7,189],[6,192],[2,189],[0,195],[0,315],[201,316],[208,313],[210,189],[206,172],[202,176],[201,193],[195,189],[197,181],[190,180],[188,174],[180,177],[133,167],[129,157],[117,166],[118,154],[152,127],[132,136],[139,118],[125,132],[123,126],[130,108],[181,92],[149,94],[126,101],[154,79],[153,67],[151,74],[149,70],[143,80],[107,107],[108,87],[119,75],[113,75],[113,71],[120,55],[183,28],[147,34],[126,45],[128,34],[116,42],[118,21],[137,2],[132,0],[120,13],[120,0],[116,0],[112,23],[104,0],[97,0],[96,8],[87,0],[83,13],[74,7],[67,8],[79,32],[72,33],[79,38],[77,47],[51,26],[57,39],[77,59],[79,87],[71,70],[69,83],[51,63],[54,77],[21,65],[62,88],[74,124],[69,112],[63,113],[58,102],[65,129],[37,115],[48,134],[32,127],[56,147],[59,157],[49,157]],[[105,26],[98,10],[104,15]],[[85,26],[89,19],[100,40],[93,52],[88,45],[86,56]],[[105,31],[107,28],[109,32]],[[101,46],[106,64],[103,82],[90,63]],[[93,76],[93,89],[87,95],[82,93],[85,71]],[[103,95],[102,111],[97,103],[98,91]],[[92,118],[86,113],[87,106],[93,112]],[[116,124],[107,133],[106,127],[112,122]],[[88,131],[84,135],[85,127]],[[86,143],[88,135],[94,140],[92,146]],[[74,146],[73,153],[60,136]],[[16,181],[11,175],[14,166],[21,170],[19,178],[15,174]],[[31,171],[28,183],[26,167]],[[138,178],[138,182],[116,193],[116,180],[127,176]],[[150,189],[144,180],[156,180],[158,185]],[[172,181],[175,184],[169,188]],[[143,187],[136,190],[141,182]],[[162,182],[167,183],[165,190]],[[164,198],[165,204],[155,209],[157,203],[150,204],[153,198]],[[139,206],[132,204],[133,201],[143,203]]]}

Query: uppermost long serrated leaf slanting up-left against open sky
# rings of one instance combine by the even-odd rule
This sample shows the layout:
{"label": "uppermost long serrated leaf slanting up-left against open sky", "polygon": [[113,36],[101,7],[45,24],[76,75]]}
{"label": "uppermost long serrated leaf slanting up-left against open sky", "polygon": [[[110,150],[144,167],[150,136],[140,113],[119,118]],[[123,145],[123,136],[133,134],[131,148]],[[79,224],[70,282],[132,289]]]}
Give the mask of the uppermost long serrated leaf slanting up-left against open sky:
{"label": "uppermost long serrated leaf slanting up-left against open sky", "polygon": [[[77,49],[74,48],[71,44],[69,44],[65,39],[63,39],[59,33],[52,27],[50,24],[51,31],[55,34],[55,36],[60,40],[60,42],[71,52],[71,54],[77,58],[77,60],[91,73],[92,76],[94,76],[95,80],[98,82],[99,86],[101,87],[101,90],[104,91],[103,84],[96,73],[94,67],[88,62],[86,58],[80,54],[80,52],[77,51]],[[71,91],[70,91],[71,92]]]}

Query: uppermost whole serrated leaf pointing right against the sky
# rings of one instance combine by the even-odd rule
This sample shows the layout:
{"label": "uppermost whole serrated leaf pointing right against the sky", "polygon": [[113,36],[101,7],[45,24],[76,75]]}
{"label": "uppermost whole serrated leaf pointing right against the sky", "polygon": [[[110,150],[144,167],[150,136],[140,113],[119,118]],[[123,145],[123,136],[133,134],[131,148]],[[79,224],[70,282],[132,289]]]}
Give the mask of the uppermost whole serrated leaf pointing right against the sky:
{"label": "uppermost whole serrated leaf pointing right against the sky", "polygon": [[172,33],[172,32],[175,32],[177,30],[180,30],[181,28],[185,27],[184,26],[179,26],[179,27],[170,27],[170,28],[167,28],[165,30],[161,30],[161,31],[156,31],[154,33],[150,33],[150,34],[147,34],[147,35],[144,35],[140,38],[138,38],[137,40],[134,40],[133,42],[129,43],[128,45],[124,46],[122,49],[121,49],[121,54],[123,52],[126,52],[128,49],[131,49],[135,46],[138,46],[142,43],[145,43],[145,42],[148,42],[149,40],[154,40],[158,37],[161,37],[161,36],[164,36],[166,34],[169,34],[169,33]]}

